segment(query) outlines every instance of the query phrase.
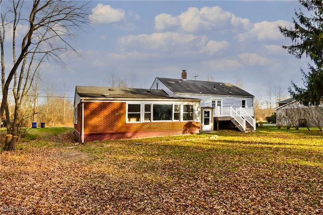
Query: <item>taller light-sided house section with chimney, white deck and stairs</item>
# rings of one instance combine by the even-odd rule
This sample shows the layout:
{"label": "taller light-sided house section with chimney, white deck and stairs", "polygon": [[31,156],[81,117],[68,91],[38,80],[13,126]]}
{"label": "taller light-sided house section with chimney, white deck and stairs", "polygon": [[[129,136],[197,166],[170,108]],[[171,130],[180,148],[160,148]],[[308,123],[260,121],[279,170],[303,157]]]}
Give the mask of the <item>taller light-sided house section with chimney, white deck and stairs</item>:
{"label": "taller light-sided house section with chimney, white deck and stairs", "polygon": [[243,132],[256,129],[254,96],[233,84],[188,80],[183,70],[181,79],[155,78],[150,89],[163,89],[171,96],[201,99],[201,131],[219,129],[223,122],[234,124]]}

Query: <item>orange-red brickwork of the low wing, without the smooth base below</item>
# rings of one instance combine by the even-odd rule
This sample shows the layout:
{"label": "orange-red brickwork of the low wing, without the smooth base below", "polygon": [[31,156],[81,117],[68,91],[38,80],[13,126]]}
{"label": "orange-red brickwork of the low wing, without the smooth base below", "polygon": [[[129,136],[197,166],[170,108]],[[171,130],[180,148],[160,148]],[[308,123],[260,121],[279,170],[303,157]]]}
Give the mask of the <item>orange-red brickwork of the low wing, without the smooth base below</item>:
{"label": "orange-red brickwork of the low wing, without the smooth base below", "polygon": [[[78,124],[75,129],[81,133],[81,104],[78,106]],[[160,131],[170,134],[196,133],[199,131],[198,122],[144,122],[126,123],[126,102],[85,102],[84,103],[84,134],[106,133],[147,133],[157,134]],[[156,131],[154,133],[154,131]]]}

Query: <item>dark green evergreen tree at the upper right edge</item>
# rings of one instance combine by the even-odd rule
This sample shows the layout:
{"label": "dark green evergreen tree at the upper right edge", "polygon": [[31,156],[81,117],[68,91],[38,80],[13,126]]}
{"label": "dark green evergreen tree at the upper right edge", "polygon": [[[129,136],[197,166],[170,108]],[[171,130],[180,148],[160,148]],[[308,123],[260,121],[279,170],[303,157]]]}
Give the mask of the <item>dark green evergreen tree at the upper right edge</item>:
{"label": "dark green evergreen tree at the upper right edge", "polygon": [[309,58],[311,63],[308,63],[307,73],[301,69],[303,86],[292,82],[294,89],[289,88],[289,92],[304,105],[319,105],[323,99],[323,3],[315,0],[300,0],[299,3],[310,16],[306,17],[301,9],[295,10],[294,27],[279,26],[280,32],[293,43],[282,47],[298,59]]}

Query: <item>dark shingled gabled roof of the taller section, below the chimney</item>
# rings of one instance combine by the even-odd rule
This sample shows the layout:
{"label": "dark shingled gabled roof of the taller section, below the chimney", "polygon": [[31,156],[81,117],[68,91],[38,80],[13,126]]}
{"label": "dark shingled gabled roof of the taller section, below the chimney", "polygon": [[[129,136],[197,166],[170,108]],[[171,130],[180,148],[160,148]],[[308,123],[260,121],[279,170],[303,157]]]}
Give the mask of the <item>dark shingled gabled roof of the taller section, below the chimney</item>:
{"label": "dark shingled gabled roof of the taller section, below the chimney", "polygon": [[254,97],[247,91],[224,82],[182,80],[172,78],[157,78],[173,93],[188,94],[211,94],[211,95],[232,95],[232,96],[250,96]]}

